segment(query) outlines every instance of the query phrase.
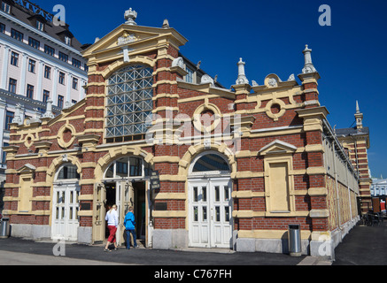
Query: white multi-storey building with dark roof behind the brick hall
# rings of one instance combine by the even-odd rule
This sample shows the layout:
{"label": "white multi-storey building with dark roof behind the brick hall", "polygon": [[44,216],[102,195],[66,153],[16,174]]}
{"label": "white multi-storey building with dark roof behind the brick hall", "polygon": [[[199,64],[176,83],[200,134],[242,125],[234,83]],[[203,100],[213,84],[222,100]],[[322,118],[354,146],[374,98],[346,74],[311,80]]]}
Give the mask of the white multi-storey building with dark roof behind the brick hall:
{"label": "white multi-storey building with dark roof behind the brick hall", "polygon": [[[9,124],[39,116],[85,97],[88,66],[82,45],[68,25],[26,0],[0,0],[0,181],[6,169],[2,147],[10,141]],[[1,200],[1,194],[0,194]],[[0,203],[0,212],[1,212]]]}

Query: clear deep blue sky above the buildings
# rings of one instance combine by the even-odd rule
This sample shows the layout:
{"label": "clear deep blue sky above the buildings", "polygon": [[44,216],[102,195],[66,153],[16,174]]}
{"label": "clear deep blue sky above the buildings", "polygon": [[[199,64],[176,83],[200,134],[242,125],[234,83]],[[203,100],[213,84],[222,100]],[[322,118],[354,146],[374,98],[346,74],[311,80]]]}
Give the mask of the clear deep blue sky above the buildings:
{"label": "clear deep blue sky above the buildings", "polygon": [[[331,126],[352,126],[356,100],[370,127],[369,165],[374,177],[387,178],[387,1],[294,0],[294,1],[106,1],[38,0],[44,10],[54,4],[66,7],[66,22],[82,43],[103,37],[124,20],[124,11],[138,12],[140,26],[171,27],[189,42],[184,56],[202,69],[218,75],[229,88],[237,77],[239,57],[246,75],[260,85],[269,73],[287,80],[301,73],[302,50],[313,50],[313,65],[321,75],[320,102],[328,108]],[[319,25],[319,7],[329,4],[331,26]]]}

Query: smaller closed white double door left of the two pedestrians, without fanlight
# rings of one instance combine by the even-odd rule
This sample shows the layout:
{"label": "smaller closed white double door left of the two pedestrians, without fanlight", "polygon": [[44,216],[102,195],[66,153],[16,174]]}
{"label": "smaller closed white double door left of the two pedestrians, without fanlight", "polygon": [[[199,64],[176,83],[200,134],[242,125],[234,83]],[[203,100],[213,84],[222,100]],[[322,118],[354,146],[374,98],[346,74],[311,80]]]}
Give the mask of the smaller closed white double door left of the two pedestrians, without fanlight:
{"label": "smaller closed white double door left of the two pedestrians, without fanlight", "polygon": [[81,187],[78,183],[54,185],[52,239],[77,241]]}

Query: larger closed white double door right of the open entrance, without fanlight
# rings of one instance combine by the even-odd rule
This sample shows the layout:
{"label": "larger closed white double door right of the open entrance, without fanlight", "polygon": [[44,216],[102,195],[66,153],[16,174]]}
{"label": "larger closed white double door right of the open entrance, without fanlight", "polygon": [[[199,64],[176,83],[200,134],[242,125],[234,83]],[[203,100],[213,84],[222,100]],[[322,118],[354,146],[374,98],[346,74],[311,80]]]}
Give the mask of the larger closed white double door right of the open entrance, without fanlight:
{"label": "larger closed white double door right of the open entrance, without fanlight", "polygon": [[190,180],[190,247],[232,247],[232,183]]}

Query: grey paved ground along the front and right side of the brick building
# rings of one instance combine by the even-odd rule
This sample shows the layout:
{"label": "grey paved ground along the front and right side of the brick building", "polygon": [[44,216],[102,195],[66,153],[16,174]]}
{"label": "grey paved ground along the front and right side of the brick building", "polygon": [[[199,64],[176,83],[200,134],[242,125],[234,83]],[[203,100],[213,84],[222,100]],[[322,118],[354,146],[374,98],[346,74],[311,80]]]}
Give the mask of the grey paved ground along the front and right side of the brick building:
{"label": "grey paved ground along the front and right side of the brick building", "polygon": [[[333,265],[387,264],[387,221],[380,226],[355,226],[336,249]],[[312,256],[291,257],[282,254],[236,253],[227,249],[123,249],[106,253],[101,246],[67,242],[0,239],[0,265],[138,265],[152,266],[222,266],[236,265],[330,265]],[[152,274],[152,273],[151,273]]]}

